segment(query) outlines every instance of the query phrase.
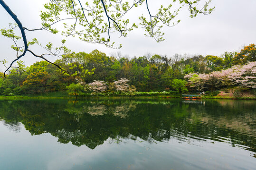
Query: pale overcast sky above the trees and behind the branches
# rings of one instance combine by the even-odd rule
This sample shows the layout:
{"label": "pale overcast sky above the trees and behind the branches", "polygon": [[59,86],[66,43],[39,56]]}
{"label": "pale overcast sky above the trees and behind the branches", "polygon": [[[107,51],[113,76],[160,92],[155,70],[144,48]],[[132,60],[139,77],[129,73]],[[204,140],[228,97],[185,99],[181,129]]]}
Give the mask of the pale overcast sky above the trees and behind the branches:
{"label": "pale overcast sky above the trees and behind the branches", "polygon": [[[28,28],[40,27],[39,11],[47,0],[4,0],[11,10],[17,15],[23,26]],[[164,0],[163,0],[164,1]],[[166,0],[165,0],[166,1]],[[169,0],[172,1],[172,0]],[[161,0],[157,1],[158,3]],[[151,8],[155,0],[149,0]],[[152,54],[166,54],[171,57],[179,54],[202,54],[220,56],[224,51],[239,51],[244,45],[256,43],[256,0],[212,0],[211,6],[215,11],[210,15],[199,15],[190,18],[187,10],[180,12],[178,19],[181,22],[174,27],[165,27],[165,41],[157,43],[154,39],[145,37],[143,30],[135,30],[124,38],[114,38],[114,42],[121,43],[119,50],[109,49],[101,44],[82,42],[76,38],[68,38],[66,46],[72,51],[85,51],[87,53],[98,49],[110,55],[111,52],[121,51],[129,57],[142,56],[146,52]],[[128,14],[129,15],[129,14]],[[145,14],[146,15],[146,14]],[[131,17],[133,17],[131,15]],[[0,29],[8,28],[13,19],[0,6]],[[61,35],[52,35],[47,32],[34,32],[27,34],[28,38],[37,37],[42,42],[59,42]],[[11,41],[0,36],[0,60],[15,59],[15,52],[10,49]],[[35,49],[38,54],[39,49]],[[48,58],[54,61],[56,58]],[[26,65],[31,65],[37,60],[31,55],[22,58]],[[0,65],[0,71],[4,67]]]}

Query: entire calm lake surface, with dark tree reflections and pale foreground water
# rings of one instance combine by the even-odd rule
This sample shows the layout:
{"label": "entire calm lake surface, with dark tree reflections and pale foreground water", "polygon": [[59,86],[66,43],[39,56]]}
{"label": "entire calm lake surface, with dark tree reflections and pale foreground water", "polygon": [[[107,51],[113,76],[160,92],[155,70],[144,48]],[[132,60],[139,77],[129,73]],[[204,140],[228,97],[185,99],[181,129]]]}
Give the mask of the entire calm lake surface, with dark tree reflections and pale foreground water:
{"label": "entire calm lake surface, with dark tree reflections and pale foreground water", "polygon": [[0,100],[0,170],[255,170],[256,101]]}

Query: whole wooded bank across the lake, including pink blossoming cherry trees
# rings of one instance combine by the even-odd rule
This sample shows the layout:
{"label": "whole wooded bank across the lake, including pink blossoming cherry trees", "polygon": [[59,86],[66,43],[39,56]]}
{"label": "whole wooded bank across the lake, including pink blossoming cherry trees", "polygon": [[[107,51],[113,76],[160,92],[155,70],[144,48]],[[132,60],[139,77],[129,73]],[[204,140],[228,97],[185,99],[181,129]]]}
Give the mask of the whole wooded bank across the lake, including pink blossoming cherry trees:
{"label": "whole wooded bank across the lake, including pink blossoming cherry trees", "polygon": [[[2,61],[6,63],[5,60]],[[140,94],[255,93],[256,45],[221,56],[146,53],[129,58],[94,50],[61,56],[54,64],[39,61],[26,67],[21,60],[4,76],[0,95],[34,95],[66,91],[70,96]]]}

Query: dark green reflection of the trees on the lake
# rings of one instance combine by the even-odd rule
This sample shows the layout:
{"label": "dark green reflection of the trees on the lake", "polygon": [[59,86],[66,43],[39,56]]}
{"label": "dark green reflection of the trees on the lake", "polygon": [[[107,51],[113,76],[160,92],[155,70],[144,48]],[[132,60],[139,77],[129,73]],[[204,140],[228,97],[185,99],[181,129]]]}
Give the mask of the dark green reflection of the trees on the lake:
{"label": "dark green reflection of the trees on the lake", "polygon": [[[0,120],[12,131],[50,133],[60,143],[94,149],[107,139],[226,142],[256,152],[256,101],[1,100]],[[125,139],[125,140],[123,140]],[[209,139],[209,140],[208,140]]]}

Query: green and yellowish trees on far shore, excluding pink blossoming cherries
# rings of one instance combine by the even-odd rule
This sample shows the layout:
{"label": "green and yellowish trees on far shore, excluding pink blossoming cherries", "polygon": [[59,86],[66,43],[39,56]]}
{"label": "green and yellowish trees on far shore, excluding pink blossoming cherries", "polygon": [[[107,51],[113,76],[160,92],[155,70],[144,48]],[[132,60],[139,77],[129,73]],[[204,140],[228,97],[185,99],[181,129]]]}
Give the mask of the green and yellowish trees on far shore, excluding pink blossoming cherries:
{"label": "green and yellowish trees on far shore, excluding pink blossoming cherries", "polygon": [[[158,54],[147,54],[129,59],[120,53],[107,56],[101,51],[94,50],[91,53],[71,53],[57,59],[55,64],[65,71],[47,61],[36,62],[29,67],[25,67],[22,61],[18,61],[17,67],[11,68],[6,78],[3,73],[0,73],[0,94],[64,91],[68,85],[79,83],[78,79],[80,83],[82,81],[86,84],[92,83],[94,80],[111,84],[121,78],[128,79],[128,84],[133,85],[136,91],[140,92],[179,91],[179,88],[173,86],[174,79],[185,82],[184,80],[187,78],[188,84],[186,85],[189,87],[198,81],[197,76],[193,77],[193,73],[200,77],[200,75],[226,70],[235,65],[239,67],[249,62],[255,63],[253,61],[256,61],[255,44],[245,46],[240,52],[224,52],[221,56],[194,55],[190,58],[179,54],[175,54],[171,58]],[[255,69],[255,66],[251,68]],[[255,73],[252,72],[251,79],[254,76]],[[250,81],[255,82],[255,80]],[[200,82],[198,81],[198,83]],[[230,86],[235,85],[231,84]],[[212,85],[209,85],[201,90],[215,90],[216,88],[217,86],[213,88]],[[249,88],[255,87],[251,85]],[[189,90],[197,91],[199,88],[189,88]],[[106,89],[106,91],[111,91],[111,89]]]}

